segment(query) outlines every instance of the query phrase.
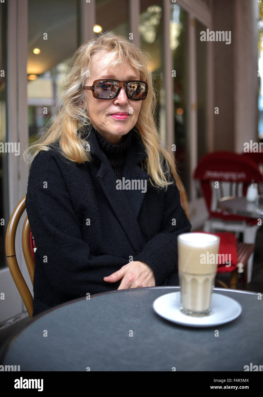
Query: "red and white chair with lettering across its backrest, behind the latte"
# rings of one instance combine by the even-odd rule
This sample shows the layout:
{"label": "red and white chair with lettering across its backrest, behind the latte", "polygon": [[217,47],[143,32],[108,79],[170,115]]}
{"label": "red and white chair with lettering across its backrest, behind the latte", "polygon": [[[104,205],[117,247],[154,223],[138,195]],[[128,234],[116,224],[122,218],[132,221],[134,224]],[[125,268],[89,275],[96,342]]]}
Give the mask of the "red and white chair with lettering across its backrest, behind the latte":
{"label": "red and white chair with lettering across its backrest, behind the latte", "polygon": [[[200,180],[209,218],[203,230],[235,231],[243,233],[244,243],[255,243],[257,219],[223,212],[217,202],[222,197],[243,197],[253,180],[263,182],[259,168],[250,158],[234,152],[213,152],[203,156],[195,170],[194,179]],[[251,281],[253,254],[248,260],[247,282]]]}

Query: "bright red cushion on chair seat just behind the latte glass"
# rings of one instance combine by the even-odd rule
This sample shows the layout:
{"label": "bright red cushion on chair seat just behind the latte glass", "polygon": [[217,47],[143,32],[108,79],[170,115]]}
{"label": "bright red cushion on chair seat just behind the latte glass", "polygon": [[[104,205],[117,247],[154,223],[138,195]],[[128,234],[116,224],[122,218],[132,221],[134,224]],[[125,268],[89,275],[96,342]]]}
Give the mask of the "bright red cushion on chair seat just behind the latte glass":
{"label": "bright red cushion on chair seat just behind the latte glass", "polygon": [[[219,254],[224,254],[226,262],[229,261],[231,258],[230,262],[227,263],[227,265],[231,264],[231,266],[226,266],[225,263],[223,264],[218,264],[217,265],[217,273],[227,273],[227,272],[232,272],[238,263],[238,252],[237,252],[237,237],[231,233],[230,231],[225,231],[225,232],[219,232],[219,233],[207,233],[205,231],[196,231],[193,233],[206,233],[206,234],[214,234],[218,237],[220,237],[220,243],[219,243]],[[226,256],[227,254],[227,256]],[[231,256],[229,257],[229,255]]]}

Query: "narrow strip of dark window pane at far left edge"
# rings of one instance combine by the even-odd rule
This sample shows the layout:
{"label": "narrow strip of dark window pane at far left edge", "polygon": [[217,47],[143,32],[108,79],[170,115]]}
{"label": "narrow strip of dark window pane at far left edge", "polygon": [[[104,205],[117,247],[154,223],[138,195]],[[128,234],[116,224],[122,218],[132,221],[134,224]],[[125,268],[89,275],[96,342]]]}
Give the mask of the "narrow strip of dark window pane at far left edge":
{"label": "narrow strip of dark window pane at far left edge", "polygon": [[[0,141],[7,142],[7,131],[6,131],[6,21],[7,21],[7,7],[6,3],[1,3],[0,6]],[[5,73],[5,74],[4,74]],[[6,262],[6,229],[8,225],[8,153],[0,152],[0,268],[4,267]],[[10,153],[10,156],[13,156]],[[2,219],[5,220],[5,224],[2,224]]]}

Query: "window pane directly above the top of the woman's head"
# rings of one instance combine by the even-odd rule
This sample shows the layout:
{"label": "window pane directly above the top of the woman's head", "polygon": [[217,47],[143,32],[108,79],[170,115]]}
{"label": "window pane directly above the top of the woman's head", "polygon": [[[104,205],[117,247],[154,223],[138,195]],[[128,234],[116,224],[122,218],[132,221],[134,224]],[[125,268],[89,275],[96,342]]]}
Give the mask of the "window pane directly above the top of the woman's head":
{"label": "window pane directly above the top of the woman's head", "polygon": [[96,0],[96,24],[128,39],[129,0]]}

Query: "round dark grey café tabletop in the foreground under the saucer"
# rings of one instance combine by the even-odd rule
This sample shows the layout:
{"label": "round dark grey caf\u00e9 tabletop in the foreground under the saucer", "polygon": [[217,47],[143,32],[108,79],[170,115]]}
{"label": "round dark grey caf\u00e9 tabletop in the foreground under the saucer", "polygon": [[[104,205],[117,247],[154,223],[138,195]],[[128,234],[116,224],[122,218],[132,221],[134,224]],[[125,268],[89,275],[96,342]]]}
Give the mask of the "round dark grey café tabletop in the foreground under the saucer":
{"label": "round dark grey caf\u00e9 tabletop in the foreground under the saucer", "polygon": [[[20,371],[242,371],[263,364],[263,300],[215,288],[242,306],[236,320],[191,328],[161,318],[154,300],[179,287],[145,287],[91,295],[47,310],[1,350]],[[47,337],[44,337],[44,332]],[[218,330],[218,337],[215,336]],[[133,334],[133,336],[129,336]]]}

